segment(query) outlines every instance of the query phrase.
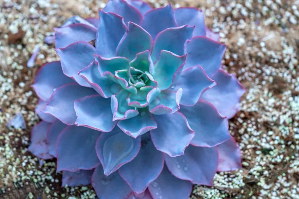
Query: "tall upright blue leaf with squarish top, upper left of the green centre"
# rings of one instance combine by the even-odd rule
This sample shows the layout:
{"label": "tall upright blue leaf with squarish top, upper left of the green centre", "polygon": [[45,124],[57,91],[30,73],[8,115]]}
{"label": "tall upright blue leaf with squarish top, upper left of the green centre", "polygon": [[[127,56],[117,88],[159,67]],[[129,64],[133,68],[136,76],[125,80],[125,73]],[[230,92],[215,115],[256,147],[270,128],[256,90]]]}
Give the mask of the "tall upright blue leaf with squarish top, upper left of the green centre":
{"label": "tall upright blue leaf with squarish top, upper left of the green centre", "polygon": [[96,37],[97,54],[103,57],[115,57],[116,48],[124,36],[127,26],[123,17],[99,10],[100,25]]}

